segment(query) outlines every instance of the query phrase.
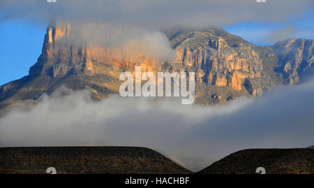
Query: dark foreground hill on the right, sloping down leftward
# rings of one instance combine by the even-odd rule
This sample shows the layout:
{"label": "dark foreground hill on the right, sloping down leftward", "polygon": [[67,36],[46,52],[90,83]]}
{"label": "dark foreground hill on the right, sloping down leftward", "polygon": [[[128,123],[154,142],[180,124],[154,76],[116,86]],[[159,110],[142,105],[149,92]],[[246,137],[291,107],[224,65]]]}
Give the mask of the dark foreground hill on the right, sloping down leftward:
{"label": "dark foreground hill on the right, sloping down leftward", "polygon": [[266,173],[314,173],[314,150],[311,149],[251,149],[234,152],[198,173],[255,173],[263,167]]}

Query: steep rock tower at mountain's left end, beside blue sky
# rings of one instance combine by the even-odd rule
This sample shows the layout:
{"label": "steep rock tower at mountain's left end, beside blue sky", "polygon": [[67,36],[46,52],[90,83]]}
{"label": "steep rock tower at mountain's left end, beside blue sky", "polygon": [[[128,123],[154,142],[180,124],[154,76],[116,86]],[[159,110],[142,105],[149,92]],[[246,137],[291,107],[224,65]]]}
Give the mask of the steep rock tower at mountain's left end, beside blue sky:
{"label": "steep rock tower at mountain's left end, beside blue sky", "polygon": [[38,62],[29,69],[31,77],[39,75],[63,77],[70,70],[75,73],[80,66],[88,65],[86,47],[70,43],[67,40],[70,34],[70,24],[50,23],[45,34],[43,52]]}

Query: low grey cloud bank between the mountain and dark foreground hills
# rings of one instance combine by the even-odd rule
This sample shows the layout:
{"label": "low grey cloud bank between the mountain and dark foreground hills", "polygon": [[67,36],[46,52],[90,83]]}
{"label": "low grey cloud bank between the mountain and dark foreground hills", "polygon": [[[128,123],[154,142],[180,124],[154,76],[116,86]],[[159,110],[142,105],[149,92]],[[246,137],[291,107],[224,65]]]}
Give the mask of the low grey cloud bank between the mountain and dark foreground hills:
{"label": "low grey cloud bank between the mountain and dark foreground hills", "polygon": [[199,170],[246,148],[314,143],[314,80],[225,106],[181,105],[61,88],[25,112],[0,119],[0,146],[129,145],[149,147]]}

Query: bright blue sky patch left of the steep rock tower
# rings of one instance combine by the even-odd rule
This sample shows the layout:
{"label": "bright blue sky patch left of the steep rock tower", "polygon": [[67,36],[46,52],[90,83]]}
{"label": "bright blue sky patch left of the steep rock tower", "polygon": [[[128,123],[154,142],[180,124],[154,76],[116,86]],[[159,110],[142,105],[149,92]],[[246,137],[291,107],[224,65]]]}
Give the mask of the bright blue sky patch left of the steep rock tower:
{"label": "bright blue sky patch left of the steep rock tower", "polygon": [[24,20],[0,22],[0,85],[28,75],[41,53],[45,29],[45,24]]}

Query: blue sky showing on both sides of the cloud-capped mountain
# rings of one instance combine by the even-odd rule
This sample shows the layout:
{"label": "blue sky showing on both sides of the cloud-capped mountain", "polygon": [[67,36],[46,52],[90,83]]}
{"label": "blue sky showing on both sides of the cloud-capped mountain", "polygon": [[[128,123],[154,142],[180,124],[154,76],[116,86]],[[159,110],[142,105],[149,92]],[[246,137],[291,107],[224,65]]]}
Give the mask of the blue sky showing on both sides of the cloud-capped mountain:
{"label": "blue sky showing on both sides of the cloud-capped mountain", "polygon": [[[257,45],[269,45],[272,31],[293,28],[285,38],[314,38],[313,13],[294,17],[280,23],[240,22],[223,27],[231,34]],[[47,23],[31,23],[25,20],[3,20],[0,22],[0,85],[28,75],[29,67],[40,55]]]}

